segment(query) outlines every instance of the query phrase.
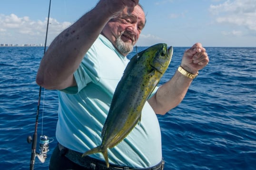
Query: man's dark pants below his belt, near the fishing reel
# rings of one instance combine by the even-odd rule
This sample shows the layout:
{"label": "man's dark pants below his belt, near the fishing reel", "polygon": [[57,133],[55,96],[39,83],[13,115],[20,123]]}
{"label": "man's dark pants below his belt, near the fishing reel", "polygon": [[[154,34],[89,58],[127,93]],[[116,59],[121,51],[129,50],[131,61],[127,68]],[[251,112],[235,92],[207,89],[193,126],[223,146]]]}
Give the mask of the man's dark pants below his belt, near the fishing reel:
{"label": "man's dark pants below his belt, near the fishing reel", "polygon": [[70,161],[65,157],[65,152],[59,151],[57,146],[52,152],[50,158],[49,170],[89,170],[84,167],[79,166],[78,164]]}

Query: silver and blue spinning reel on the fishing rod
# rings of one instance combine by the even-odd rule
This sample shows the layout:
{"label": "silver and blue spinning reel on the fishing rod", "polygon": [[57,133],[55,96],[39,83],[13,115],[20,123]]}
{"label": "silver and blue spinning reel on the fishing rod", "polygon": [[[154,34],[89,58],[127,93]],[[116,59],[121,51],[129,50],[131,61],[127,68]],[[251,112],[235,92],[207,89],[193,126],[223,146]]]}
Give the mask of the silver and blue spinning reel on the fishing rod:
{"label": "silver and blue spinning reel on the fishing rod", "polygon": [[[28,136],[27,142],[30,143],[32,137]],[[39,152],[36,152],[35,157],[37,156],[39,161],[44,163],[47,158],[47,152],[49,151],[49,143],[53,142],[53,138],[49,138],[46,135],[40,136],[39,141]]]}

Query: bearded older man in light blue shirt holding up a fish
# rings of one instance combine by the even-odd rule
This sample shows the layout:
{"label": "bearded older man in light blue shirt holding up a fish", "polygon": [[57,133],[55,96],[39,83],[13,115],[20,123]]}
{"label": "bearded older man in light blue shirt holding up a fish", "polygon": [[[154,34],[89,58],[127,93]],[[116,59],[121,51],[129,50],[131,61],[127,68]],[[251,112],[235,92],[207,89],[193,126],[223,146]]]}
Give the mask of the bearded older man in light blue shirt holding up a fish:
{"label": "bearded older man in light blue shirt holding up a fish", "polygon": [[[99,0],[95,8],[60,33],[39,66],[37,83],[59,90],[59,120],[50,170],[107,169],[101,154],[83,152],[101,143],[115,88],[142,29],[145,13],[138,0]],[[198,70],[209,59],[196,43],[175,75],[148,99],[142,119],[129,135],[108,150],[110,169],[163,169],[156,114],[165,114],[184,98]]]}

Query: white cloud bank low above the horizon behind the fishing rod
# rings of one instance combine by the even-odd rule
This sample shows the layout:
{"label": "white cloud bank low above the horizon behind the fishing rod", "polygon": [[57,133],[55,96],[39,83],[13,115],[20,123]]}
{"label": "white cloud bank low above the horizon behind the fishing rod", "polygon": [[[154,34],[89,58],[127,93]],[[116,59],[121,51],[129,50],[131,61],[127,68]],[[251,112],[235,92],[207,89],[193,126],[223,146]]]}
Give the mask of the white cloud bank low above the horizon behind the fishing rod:
{"label": "white cloud bank low above the horizon behind the fishing rod", "polygon": [[[71,23],[59,23],[56,19],[49,19],[49,38],[53,39],[62,30],[67,28]],[[3,15],[0,14],[0,43],[31,43],[37,44],[44,42],[47,28],[47,18],[41,20],[30,20],[29,17],[18,17],[15,14]],[[23,40],[20,38],[24,38]],[[27,42],[27,38],[30,41]]]}

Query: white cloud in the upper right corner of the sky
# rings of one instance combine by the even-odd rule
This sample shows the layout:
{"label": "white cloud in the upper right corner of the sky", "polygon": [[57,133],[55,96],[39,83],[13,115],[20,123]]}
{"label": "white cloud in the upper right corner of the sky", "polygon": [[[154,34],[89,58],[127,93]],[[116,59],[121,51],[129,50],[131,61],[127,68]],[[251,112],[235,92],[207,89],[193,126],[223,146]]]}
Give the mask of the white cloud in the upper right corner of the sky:
{"label": "white cloud in the upper right corner of the sky", "polygon": [[216,17],[217,23],[246,28],[253,34],[256,32],[256,0],[226,0],[211,5],[209,11]]}

